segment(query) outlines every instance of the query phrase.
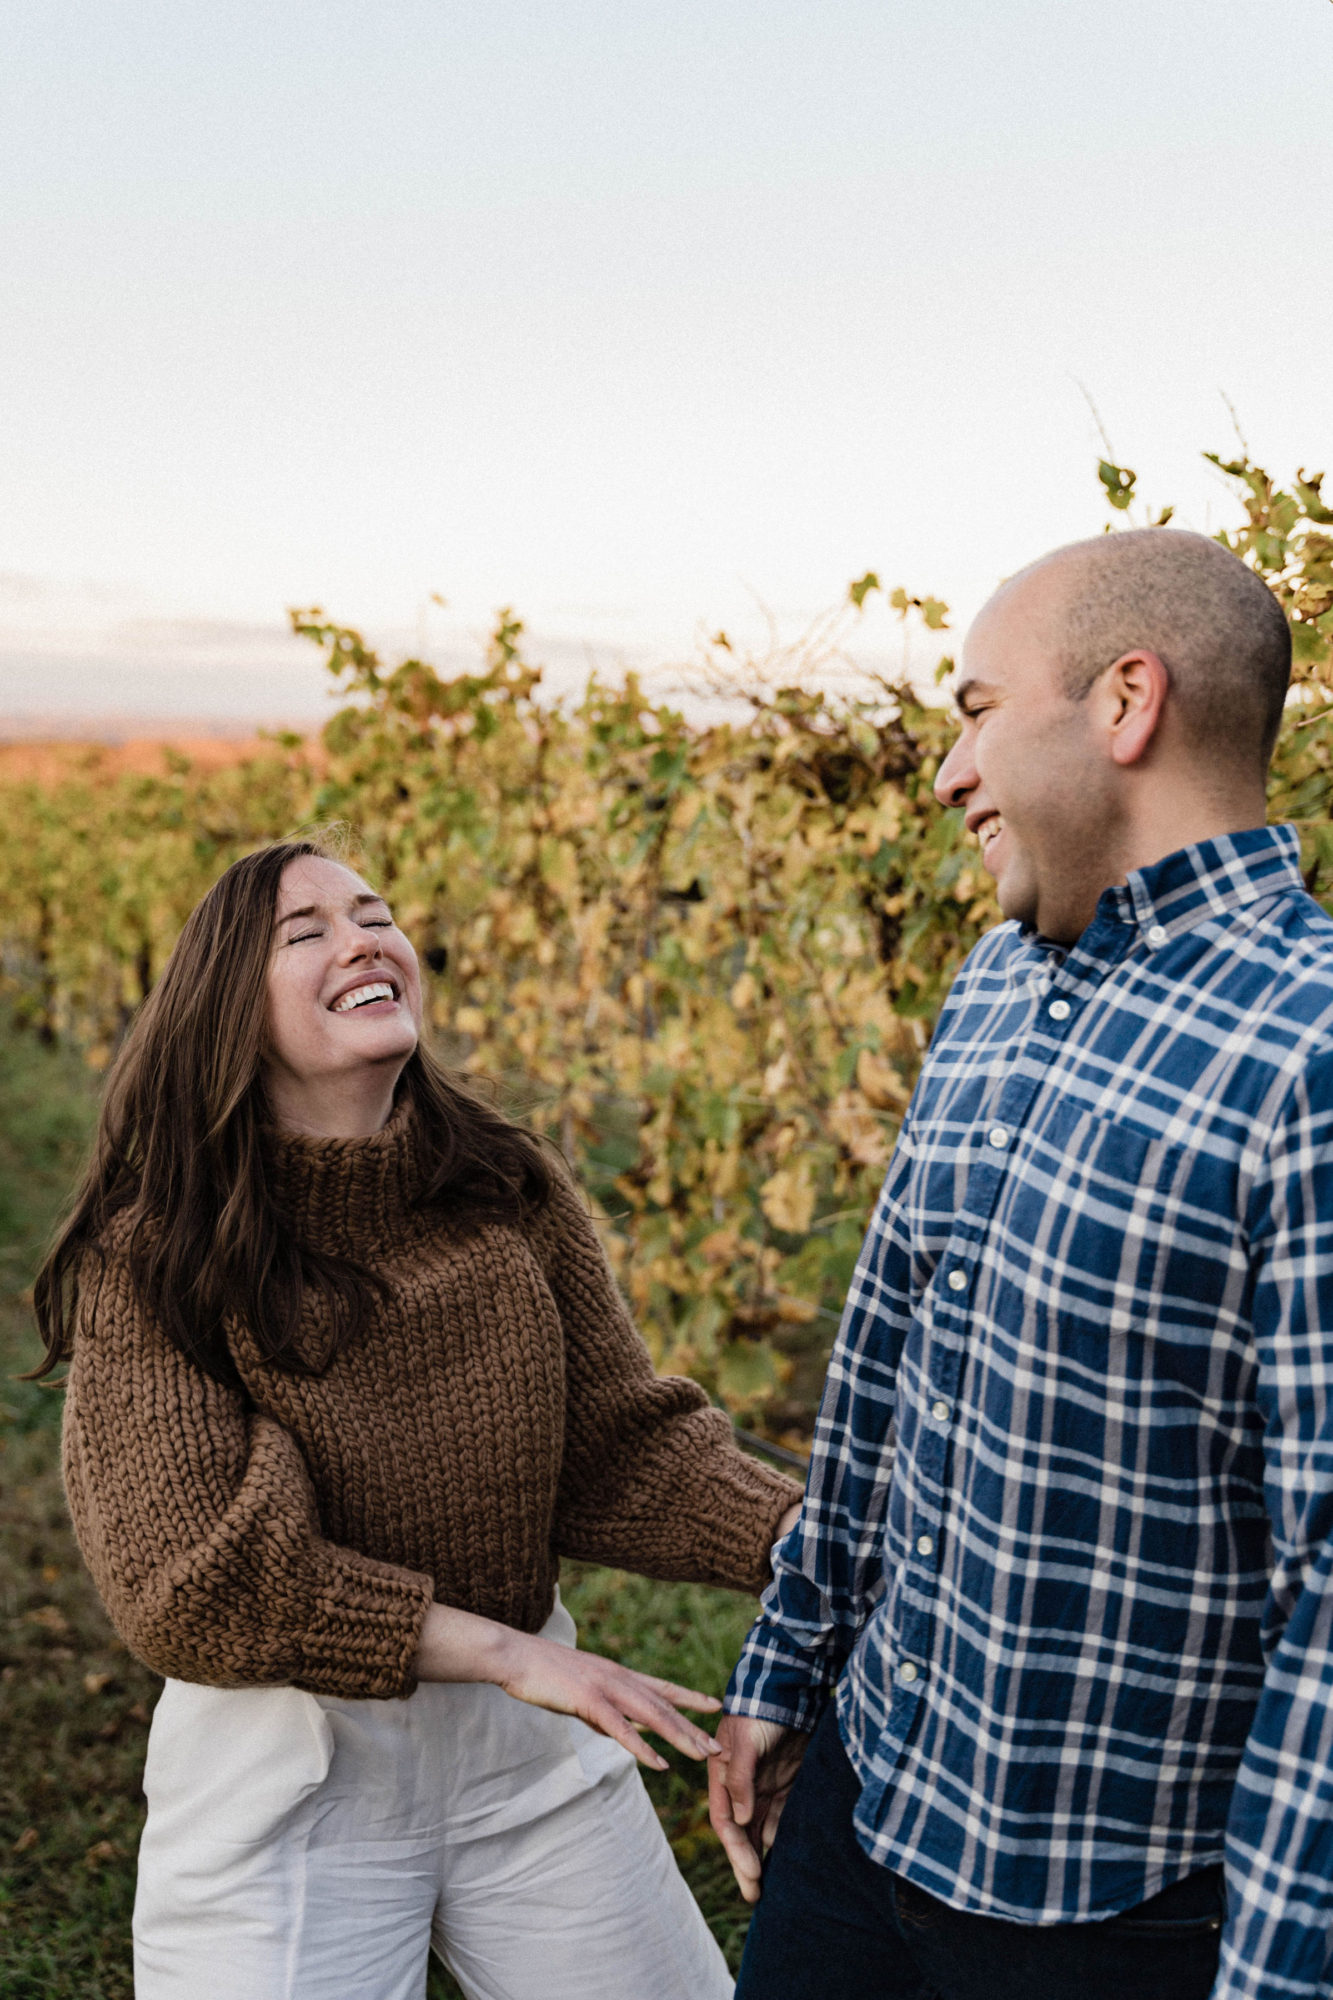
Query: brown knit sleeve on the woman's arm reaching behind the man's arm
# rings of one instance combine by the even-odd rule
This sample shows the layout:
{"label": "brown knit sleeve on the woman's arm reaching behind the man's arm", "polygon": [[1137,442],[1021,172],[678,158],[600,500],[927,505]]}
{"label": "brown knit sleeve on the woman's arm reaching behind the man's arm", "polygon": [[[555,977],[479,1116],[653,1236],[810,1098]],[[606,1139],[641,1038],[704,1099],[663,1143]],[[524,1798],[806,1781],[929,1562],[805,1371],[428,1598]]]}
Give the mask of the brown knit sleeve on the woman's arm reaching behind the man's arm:
{"label": "brown knit sleeve on the woman's arm reaching behind the man's arm", "polygon": [[592,1218],[560,1178],[534,1236],[564,1328],[562,1556],[759,1592],[801,1488],[737,1446],[697,1382],[654,1376]]}

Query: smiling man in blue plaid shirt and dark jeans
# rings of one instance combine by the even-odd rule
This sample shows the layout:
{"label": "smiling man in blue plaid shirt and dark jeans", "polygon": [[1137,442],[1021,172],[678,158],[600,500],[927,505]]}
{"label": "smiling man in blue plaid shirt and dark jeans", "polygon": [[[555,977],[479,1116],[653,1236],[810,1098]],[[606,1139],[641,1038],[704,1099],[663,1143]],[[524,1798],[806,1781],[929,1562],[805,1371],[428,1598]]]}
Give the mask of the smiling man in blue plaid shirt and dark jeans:
{"label": "smiling man in blue plaid shirt and dark jeans", "polygon": [[1333,922],[1265,826],[1289,656],[1175,530],[1057,550],[969,634],[935,790],[1009,922],[727,1696],[749,1900],[781,1814],[737,2000],[1333,1992]]}

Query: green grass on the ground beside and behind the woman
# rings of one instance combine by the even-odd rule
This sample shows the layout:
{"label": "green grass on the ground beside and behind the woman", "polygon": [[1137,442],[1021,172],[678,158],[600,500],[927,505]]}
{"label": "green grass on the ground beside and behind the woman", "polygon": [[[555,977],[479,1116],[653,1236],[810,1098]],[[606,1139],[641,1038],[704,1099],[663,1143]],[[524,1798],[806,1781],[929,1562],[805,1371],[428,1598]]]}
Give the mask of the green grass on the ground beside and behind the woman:
{"label": "green grass on the ground beside and behind the woman", "polygon": [[[0,1994],[132,2000],[140,1774],[160,1682],[110,1630],[60,1492],[60,1394],[14,1376],[40,1352],[26,1288],[92,1130],[96,1082],[0,1018]],[[580,1640],[721,1694],[753,1604],[693,1584],[566,1566]],[[646,1774],[729,1960],[749,1912],[709,1830],[699,1766]],[[458,1988],[434,1966],[428,2000]]]}

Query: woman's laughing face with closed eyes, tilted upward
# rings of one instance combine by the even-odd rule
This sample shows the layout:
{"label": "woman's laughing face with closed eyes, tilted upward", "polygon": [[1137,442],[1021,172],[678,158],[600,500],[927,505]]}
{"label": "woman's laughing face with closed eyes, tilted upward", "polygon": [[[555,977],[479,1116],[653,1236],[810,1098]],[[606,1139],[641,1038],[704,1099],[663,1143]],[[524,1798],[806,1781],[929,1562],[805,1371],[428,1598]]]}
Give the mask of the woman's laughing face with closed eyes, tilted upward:
{"label": "woman's laughing face with closed eyes, tilted upward", "polygon": [[[388,904],[340,862],[288,862],[268,960],[264,1078],[282,1124],[336,1130],[340,1098],[386,1090],[420,1034],[416,952]],[[350,1104],[348,1104],[350,1110]],[[382,1120],[380,1120],[382,1122]]]}

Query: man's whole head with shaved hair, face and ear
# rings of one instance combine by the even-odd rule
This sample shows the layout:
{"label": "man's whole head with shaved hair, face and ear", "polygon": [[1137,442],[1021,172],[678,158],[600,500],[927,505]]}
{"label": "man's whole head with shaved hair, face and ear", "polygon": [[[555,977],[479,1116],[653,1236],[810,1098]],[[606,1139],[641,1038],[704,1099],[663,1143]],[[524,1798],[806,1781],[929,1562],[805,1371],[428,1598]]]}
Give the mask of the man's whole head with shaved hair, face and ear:
{"label": "man's whole head with shaved hair, face and ear", "polygon": [[963,642],[935,776],[1005,916],[1071,944],[1135,868],[1265,822],[1291,634],[1261,576],[1201,534],[1071,542]]}

